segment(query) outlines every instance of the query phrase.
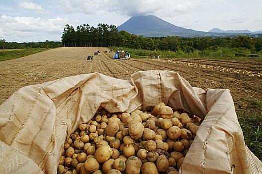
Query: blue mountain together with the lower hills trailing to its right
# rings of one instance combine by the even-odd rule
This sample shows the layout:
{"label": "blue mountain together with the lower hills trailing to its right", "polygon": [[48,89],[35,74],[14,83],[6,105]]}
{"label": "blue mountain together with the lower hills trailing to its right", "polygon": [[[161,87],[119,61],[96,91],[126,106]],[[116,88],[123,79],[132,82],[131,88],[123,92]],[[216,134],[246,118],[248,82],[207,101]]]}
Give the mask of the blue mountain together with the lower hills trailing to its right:
{"label": "blue mountain together with the lower hills trailing to its right", "polygon": [[118,30],[127,31],[131,34],[142,35],[144,37],[162,37],[162,36],[235,36],[235,35],[253,35],[262,34],[262,31],[251,32],[249,30],[227,30],[223,31],[219,28],[213,28],[209,32],[197,31],[171,24],[159,17],[149,16],[133,16],[126,22],[118,26]]}

